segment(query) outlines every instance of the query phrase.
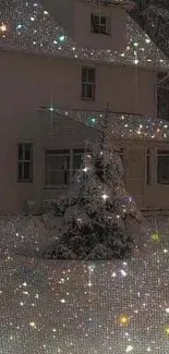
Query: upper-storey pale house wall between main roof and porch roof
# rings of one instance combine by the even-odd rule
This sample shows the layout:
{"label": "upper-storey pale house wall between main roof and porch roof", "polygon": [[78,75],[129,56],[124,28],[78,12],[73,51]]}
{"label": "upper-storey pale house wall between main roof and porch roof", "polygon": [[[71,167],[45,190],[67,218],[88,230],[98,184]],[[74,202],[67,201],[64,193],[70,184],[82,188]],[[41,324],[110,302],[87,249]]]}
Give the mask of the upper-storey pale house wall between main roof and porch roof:
{"label": "upper-storey pale house wall between main roof and porch roof", "polygon": [[[85,62],[85,65],[92,63]],[[96,99],[81,99],[82,62],[45,56],[0,51],[0,114],[9,117],[40,106],[83,110],[110,110],[155,117],[154,71],[96,64]]]}

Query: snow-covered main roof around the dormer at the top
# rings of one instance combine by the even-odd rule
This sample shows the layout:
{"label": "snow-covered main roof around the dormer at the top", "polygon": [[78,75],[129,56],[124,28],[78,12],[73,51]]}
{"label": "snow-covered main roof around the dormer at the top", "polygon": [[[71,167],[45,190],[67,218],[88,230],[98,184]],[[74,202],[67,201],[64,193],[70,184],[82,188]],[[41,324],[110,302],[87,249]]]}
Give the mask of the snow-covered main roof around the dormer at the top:
{"label": "snow-covered main roof around the dormer at the top", "polygon": [[76,45],[43,8],[40,0],[2,0],[0,3],[0,47],[87,61],[141,65],[168,70],[169,60],[128,16],[124,52],[90,50]]}

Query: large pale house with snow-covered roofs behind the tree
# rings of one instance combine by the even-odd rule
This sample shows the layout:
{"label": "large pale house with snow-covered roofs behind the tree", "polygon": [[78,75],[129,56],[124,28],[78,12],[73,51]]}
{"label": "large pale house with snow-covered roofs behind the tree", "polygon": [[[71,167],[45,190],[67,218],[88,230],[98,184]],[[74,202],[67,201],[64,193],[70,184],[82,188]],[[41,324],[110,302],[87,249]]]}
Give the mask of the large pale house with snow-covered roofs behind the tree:
{"label": "large pale house with snow-covered roofs behind the tree", "polygon": [[169,61],[128,14],[128,0],[0,4],[0,212],[67,191],[109,102],[112,145],[142,209],[169,208],[169,126],[157,76]]}

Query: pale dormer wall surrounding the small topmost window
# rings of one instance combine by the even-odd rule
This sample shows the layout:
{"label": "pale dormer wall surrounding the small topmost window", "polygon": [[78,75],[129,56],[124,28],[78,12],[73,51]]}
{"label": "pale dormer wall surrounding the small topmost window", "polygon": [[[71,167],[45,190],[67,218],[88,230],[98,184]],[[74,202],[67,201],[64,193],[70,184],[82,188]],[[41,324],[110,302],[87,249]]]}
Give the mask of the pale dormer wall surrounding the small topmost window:
{"label": "pale dormer wall surrounding the small topmost window", "polygon": [[[90,32],[90,14],[109,17],[110,35],[98,35]],[[122,52],[126,48],[126,12],[111,5],[99,5],[98,2],[75,1],[74,7],[75,42],[92,49],[109,49]]]}

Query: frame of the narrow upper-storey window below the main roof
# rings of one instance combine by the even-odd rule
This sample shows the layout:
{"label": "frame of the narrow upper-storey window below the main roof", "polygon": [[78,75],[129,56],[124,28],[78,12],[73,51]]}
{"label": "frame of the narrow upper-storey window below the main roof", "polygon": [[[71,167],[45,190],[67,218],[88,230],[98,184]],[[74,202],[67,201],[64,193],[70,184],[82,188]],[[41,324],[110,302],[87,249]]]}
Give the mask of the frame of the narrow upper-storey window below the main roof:
{"label": "frame of the narrow upper-storey window below the main roof", "polygon": [[[86,80],[83,80],[83,71],[86,70]],[[88,80],[88,71],[89,70],[94,70],[94,82],[90,82]],[[83,90],[85,87],[85,94],[83,95]],[[92,87],[92,97],[87,96],[87,88]],[[85,100],[85,101],[95,101],[95,97],[96,97],[96,68],[95,66],[82,66],[81,68],[81,99]]]}

